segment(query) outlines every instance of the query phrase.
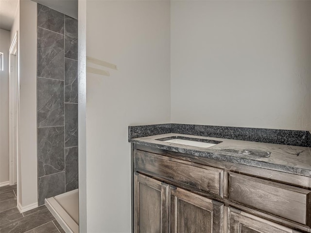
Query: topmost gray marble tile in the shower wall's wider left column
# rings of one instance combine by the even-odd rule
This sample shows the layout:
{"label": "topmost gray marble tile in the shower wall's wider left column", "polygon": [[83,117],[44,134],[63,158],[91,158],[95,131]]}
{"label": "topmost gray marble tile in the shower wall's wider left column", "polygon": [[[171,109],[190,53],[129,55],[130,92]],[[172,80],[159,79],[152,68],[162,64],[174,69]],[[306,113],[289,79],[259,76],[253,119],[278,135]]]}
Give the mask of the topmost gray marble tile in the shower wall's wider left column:
{"label": "topmost gray marble tile in the shower wall's wider left column", "polygon": [[64,14],[38,4],[37,26],[64,34]]}

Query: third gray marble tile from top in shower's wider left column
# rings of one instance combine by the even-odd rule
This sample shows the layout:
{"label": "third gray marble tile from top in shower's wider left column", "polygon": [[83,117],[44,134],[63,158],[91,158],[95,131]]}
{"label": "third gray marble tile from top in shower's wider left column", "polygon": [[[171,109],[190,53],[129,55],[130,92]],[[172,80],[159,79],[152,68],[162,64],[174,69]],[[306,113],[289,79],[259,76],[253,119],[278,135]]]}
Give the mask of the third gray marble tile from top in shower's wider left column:
{"label": "third gray marble tile from top in shower's wider left column", "polygon": [[38,127],[64,125],[64,81],[37,78]]}

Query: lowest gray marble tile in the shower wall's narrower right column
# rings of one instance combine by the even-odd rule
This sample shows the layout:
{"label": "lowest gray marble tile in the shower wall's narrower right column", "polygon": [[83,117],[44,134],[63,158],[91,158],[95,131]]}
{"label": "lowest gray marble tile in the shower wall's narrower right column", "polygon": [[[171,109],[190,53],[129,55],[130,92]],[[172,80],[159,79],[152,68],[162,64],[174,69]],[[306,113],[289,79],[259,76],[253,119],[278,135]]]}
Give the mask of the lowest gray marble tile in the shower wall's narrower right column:
{"label": "lowest gray marble tile in the shower wall's narrower right column", "polygon": [[66,148],[66,192],[79,187],[78,147]]}

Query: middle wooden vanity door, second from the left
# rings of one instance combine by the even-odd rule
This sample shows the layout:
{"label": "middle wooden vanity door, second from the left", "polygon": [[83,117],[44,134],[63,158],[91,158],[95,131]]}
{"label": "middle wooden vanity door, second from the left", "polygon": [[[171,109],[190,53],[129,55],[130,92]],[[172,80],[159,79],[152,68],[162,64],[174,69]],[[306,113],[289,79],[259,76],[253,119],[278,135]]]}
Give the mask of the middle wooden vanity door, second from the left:
{"label": "middle wooden vanity door, second from the left", "polygon": [[171,233],[223,233],[224,205],[170,187]]}

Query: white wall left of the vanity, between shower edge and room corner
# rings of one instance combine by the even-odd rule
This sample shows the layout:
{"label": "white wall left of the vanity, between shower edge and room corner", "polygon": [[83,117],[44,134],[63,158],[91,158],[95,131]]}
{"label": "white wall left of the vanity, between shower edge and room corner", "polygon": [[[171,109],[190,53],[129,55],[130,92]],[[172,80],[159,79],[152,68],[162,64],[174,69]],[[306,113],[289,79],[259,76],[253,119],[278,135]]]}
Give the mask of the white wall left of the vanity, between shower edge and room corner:
{"label": "white wall left of the vanity, between shower edge and room corner", "polygon": [[86,75],[87,233],[129,233],[127,127],[170,122],[170,2],[86,1],[86,55],[118,66]]}

